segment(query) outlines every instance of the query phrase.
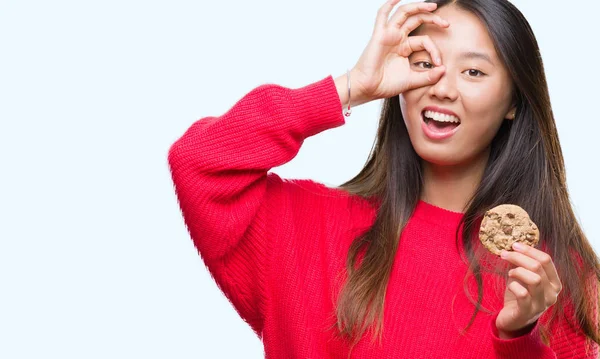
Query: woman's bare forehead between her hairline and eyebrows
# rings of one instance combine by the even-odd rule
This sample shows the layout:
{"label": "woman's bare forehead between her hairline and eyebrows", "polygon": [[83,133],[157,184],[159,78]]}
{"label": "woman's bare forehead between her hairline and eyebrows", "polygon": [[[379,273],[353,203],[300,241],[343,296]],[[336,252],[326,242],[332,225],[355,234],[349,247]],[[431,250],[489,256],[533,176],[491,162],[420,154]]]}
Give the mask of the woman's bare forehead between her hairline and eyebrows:
{"label": "woman's bare forehead between her hairline and eyebrows", "polygon": [[482,51],[494,60],[498,58],[487,28],[475,14],[455,5],[441,7],[434,13],[447,20],[450,26],[441,28],[423,24],[412,35],[428,35],[442,52]]}

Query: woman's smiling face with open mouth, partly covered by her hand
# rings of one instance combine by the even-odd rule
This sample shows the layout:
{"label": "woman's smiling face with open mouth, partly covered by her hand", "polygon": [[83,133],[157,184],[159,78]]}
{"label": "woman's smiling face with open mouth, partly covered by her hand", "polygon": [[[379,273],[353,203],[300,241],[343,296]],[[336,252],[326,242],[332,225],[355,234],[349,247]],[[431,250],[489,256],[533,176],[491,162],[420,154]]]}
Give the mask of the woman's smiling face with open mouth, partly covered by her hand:
{"label": "woman's smiling face with open mouth, partly covered by her hand", "polygon": [[[425,24],[413,35],[429,35],[446,72],[431,86],[400,94],[400,108],[421,158],[444,166],[469,164],[487,156],[502,121],[511,117],[512,81],[475,15],[453,5],[436,13],[450,27]],[[408,60],[413,71],[435,66],[426,51],[414,52]]]}

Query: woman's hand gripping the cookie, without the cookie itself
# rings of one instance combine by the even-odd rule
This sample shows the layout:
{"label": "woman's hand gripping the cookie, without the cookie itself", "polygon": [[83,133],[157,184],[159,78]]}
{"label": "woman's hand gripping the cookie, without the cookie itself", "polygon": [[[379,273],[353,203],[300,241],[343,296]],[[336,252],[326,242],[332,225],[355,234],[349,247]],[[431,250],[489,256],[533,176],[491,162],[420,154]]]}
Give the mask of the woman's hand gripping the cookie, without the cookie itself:
{"label": "woman's hand gripping the cookie, without the cookie itself", "polygon": [[504,308],[496,318],[503,339],[526,334],[539,317],[554,303],[562,283],[552,258],[527,245],[513,245],[514,252],[503,251],[511,269],[504,293]]}

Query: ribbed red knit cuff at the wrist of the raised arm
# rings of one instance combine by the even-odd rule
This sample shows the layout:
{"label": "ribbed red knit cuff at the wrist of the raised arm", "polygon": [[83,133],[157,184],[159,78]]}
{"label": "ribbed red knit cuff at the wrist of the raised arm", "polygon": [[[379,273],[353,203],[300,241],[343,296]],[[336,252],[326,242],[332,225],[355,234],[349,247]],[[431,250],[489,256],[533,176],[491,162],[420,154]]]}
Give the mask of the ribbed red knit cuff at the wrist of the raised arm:
{"label": "ribbed red knit cuff at the wrist of the raised arm", "polygon": [[292,89],[291,96],[291,103],[297,112],[295,118],[302,118],[306,126],[302,133],[307,137],[346,123],[342,102],[331,75],[307,86]]}

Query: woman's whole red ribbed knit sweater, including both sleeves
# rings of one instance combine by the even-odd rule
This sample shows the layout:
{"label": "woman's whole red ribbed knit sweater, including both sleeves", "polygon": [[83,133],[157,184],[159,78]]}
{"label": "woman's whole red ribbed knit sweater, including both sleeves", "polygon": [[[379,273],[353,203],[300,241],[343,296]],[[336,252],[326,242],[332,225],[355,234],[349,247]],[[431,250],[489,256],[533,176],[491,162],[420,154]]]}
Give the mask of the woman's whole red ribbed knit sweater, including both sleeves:
{"label": "woman's whole red ribbed knit sweater, including both sleeves", "polygon": [[[305,138],[342,126],[341,109],[331,76],[297,89],[265,84],[222,116],[193,123],[169,150],[191,238],[219,288],[262,338],[266,358],[348,355],[348,344],[328,328],[350,243],[375,219],[372,202],[268,172],[292,160]],[[524,336],[500,339],[495,318],[502,295],[489,292],[483,305],[493,314],[479,312],[461,335],[474,310],[454,240],[461,216],[419,202],[387,288],[382,345],[368,333],[352,357],[597,357],[597,346],[586,354],[582,332],[562,322],[551,328],[549,346],[537,325]],[[491,281],[484,274],[484,288]]]}

